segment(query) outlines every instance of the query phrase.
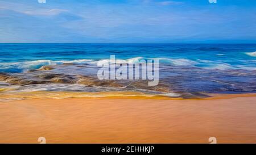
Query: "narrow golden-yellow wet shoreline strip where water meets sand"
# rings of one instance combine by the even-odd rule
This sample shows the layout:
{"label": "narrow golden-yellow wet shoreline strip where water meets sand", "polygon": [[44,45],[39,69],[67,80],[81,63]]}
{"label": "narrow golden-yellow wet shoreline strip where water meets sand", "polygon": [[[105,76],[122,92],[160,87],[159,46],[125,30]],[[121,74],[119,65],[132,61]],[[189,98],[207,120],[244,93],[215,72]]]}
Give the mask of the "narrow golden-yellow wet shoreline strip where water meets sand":
{"label": "narrow golden-yellow wet shoreline strip where water meets sand", "polygon": [[230,98],[238,98],[238,97],[256,97],[256,93],[243,93],[243,94],[201,93],[207,97],[191,97],[191,98],[183,98],[181,96],[168,97],[167,94],[146,94],[138,91],[106,91],[106,92],[31,91],[31,92],[13,92],[13,93],[0,91],[0,103],[6,102],[8,100],[13,101],[13,100],[28,100],[28,99],[67,99],[67,98],[212,100],[212,99],[230,99]]}

